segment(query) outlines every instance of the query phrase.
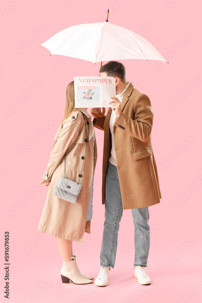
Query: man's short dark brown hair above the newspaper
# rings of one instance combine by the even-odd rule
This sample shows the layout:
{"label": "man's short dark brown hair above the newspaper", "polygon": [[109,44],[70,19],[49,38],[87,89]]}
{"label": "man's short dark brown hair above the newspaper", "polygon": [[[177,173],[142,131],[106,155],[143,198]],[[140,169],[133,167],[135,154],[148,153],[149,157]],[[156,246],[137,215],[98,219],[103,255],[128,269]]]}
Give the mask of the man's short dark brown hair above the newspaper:
{"label": "man's short dark brown hair above the newspaper", "polygon": [[121,62],[109,61],[108,63],[102,65],[100,68],[100,73],[104,72],[106,72],[108,77],[118,77],[123,83],[126,82],[126,69]]}

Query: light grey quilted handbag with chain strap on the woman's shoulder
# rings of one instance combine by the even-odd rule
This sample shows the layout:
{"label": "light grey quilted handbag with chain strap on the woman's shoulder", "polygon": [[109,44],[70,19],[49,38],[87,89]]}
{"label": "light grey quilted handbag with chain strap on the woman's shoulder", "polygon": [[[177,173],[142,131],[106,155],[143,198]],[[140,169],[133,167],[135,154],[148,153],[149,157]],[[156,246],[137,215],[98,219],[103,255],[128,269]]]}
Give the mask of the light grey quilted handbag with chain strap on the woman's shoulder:
{"label": "light grey quilted handbag with chain strap on the woman's shoulder", "polygon": [[[83,115],[83,113],[82,113]],[[84,116],[83,116],[84,117]],[[84,118],[84,122],[85,122],[85,118]],[[86,129],[86,122],[85,122],[85,129]],[[86,137],[87,137],[87,130],[86,130]],[[85,139],[86,142],[86,148],[87,148],[87,144],[88,144],[88,137]],[[82,163],[82,167],[81,167],[81,171],[84,165],[84,158],[85,158],[85,154],[86,154],[86,149],[85,149],[85,153],[84,153],[84,157],[83,157],[83,163]],[[76,200],[78,198],[78,194],[81,190],[81,184],[79,184],[81,178],[81,173],[79,175],[79,180],[78,183],[75,181],[71,181],[69,179],[65,178],[65,170],[64,170],[64,178],[60,177],[58,180],[58,183],[55,187],[55,190],[53,192],[53,195],[55,197],[58,197],[60,199],[63,199],[65,201],[71,202],[71,203],[76,203]]]}

